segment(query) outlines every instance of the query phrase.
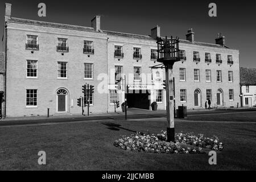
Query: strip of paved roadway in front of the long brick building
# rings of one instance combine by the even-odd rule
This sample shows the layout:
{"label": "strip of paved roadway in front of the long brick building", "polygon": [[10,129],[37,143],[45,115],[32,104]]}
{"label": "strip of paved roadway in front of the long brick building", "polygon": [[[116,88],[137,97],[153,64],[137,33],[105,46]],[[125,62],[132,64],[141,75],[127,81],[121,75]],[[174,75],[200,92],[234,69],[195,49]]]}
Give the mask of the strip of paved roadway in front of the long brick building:
{"label": "strip of paved roadway in front of the long brick building", "polygon": [[[256,111],[254,109],[196,109],[187,110],[188,115],[200,114],[221,114],[221,113],[239,113],[246,111]],[[137,108],[127,109],[127,119],[150,119],[150,118],[166,118],[166,110],[144,110]],[[125,113],[101,113],[88,115],[52,115],[49,118],[46,116],[38,117],[8,117],[0,120],[0,126],[15,126],[15,125],[38,125],[43,123],[65,123],[65,122],[80,122],[80,121],[102,121],[102,120],[124,120]]]}

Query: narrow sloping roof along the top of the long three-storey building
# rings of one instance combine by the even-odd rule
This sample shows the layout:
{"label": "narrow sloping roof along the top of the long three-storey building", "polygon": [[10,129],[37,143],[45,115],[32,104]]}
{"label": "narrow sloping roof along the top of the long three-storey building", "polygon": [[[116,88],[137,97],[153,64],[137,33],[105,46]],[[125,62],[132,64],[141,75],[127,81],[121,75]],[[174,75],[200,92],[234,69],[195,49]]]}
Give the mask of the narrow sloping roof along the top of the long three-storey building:
{"label": "narrow sloping roof along the top of the long three-storey building", "polygon": [[[38,20],[21,19],[21,18],[14,18],[14,17],[7,18],[7,22],[31,24],[31,25],[44,26],[44,27],[64,28],[64,29],[77,30],[77,31],[95,32],[94,28],[92,28],[92,27],[76,26],[76,25],[62,24],[62,23],[41,22]],[[128,34],[128,33],[108,31],[108,30],[102,30],[102,32],[104,32],[108,35],[112,35],[112,36],[121,36],[121,37],[134,38],[134,39],[155,40],[154,38],[152,38],[149,35]],[[197,46],[208,46],[208,47],[214,47],[214,48],[229,49],[229,47],[221,46],[218,44],[191,42],[189,40],[183,40],[183,39],[180,39],[180,43],[193,44],[193,45],[197,45]]]}

